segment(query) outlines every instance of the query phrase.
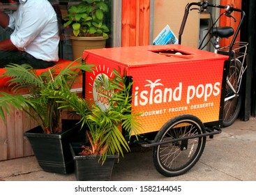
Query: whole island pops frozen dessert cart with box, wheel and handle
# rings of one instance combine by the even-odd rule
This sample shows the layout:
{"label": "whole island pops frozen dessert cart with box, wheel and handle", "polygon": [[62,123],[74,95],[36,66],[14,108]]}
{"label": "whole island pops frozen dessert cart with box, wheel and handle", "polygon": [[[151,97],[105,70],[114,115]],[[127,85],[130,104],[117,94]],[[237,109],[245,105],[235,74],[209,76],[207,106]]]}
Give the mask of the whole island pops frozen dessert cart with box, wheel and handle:
{"label": "whole island pops frozen dessert cart with box, wheel and handle", "polygon": [[85,58],[96,68],[86,72],[84,95],[96,104],[104,104],[93,90],[96,77],[112,77],[113,69],[127,72],[133,81],[132,112],[142,113],[144,129],[144,139],[135,143],[153,147],[153,163],[164,176],[186,173],[201,157],[206,137],[220,134],[229,56],[183,45],[150,45],[89,49]]}

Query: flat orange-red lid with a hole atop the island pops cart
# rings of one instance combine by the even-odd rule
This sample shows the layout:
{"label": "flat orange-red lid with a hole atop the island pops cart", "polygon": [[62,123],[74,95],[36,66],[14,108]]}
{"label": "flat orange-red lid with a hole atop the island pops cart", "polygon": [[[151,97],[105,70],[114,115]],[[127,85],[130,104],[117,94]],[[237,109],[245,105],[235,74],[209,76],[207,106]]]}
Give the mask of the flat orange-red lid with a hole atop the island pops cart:
{"label": "flat orange-red lid with a hole atop the island pops cart", "polygon": [[125,66],[153,65],[156,63],[176,63],[204,59],[228,59],[228,56],[214,54],[184,45],[148,45],[137,47],[112,47],[84,50],[87,55],[100,56],[102,59],[116,61]]}

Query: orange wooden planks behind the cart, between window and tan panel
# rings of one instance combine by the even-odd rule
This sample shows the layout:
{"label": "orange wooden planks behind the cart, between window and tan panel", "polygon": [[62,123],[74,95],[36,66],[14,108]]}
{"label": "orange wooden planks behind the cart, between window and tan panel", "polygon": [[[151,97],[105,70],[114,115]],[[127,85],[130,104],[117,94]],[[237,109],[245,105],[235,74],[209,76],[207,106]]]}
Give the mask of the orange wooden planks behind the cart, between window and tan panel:
{"label": "orange wooden planks behind the cart, between window and tan panel", "polygon": [[149,45],[150,0],[122,0],[121,46]]}

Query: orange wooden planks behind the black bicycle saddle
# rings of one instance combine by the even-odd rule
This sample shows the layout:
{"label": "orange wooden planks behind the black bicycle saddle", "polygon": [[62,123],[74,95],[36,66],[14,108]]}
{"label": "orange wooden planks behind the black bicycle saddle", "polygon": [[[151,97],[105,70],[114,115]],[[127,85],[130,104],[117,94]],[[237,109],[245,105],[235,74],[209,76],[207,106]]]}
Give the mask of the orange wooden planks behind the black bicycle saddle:
{"label": "orange wooden planks behind the black bicycle saddle", "polygon": [[[223,6],[226,6],[229,4],[229,5],[233,6],[234,8],[239,8],[239,9],[241,9],[241,6],[242,6],[241,0],[221,0],[220,4]],[[223,10],[221,10],[221,11],[223,12]],[[241,13],[234,12],[234,13],[232,13],[232,15],[234,16],[234,18],[236,18],[236,22],[234,22],[234,20],[232,18],[223,16],[220,18],[220,26],[232,26],[234,31],[236,31],[237,26],[239,25],[239,22],[241,21],[240,20]],[[233,38],[233,36],[231,38],[223,38],[222,40],[220,40],[220,45],[222,47],[229,45],[232,38]],[[240,40],[240,33],[236,38],[236,41],[239,41],[239,40]]]}

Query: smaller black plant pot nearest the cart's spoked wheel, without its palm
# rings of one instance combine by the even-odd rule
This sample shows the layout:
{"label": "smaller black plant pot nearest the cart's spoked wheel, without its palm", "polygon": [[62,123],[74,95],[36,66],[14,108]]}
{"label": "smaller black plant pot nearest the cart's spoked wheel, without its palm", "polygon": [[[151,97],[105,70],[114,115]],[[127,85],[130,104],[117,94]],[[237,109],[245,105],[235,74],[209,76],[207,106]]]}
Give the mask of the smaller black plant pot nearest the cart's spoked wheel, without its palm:
{"label": "smaller black plant pot nearest the cart's spoked wheel, without its palm", "polygon": [[104,164],[99,161],[100,156],[82,156],[83,143],[70,143],[70,150],[74,158],[75,177],[78,181],[109,181],[115,160],[119,155],[108,155]]}

